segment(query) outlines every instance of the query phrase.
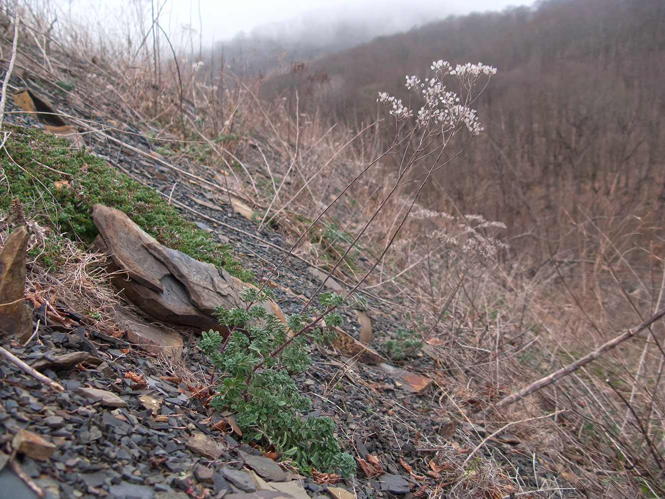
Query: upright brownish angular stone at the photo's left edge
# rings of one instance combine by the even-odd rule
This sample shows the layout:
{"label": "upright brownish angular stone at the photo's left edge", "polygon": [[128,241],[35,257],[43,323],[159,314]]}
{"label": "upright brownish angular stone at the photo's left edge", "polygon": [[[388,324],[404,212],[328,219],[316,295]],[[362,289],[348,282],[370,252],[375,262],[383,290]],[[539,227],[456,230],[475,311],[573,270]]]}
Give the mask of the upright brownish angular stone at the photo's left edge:
{"label": "upright brownish angular stone at the photo's left edge", "polygon": [[25,252],[30,234],[25,226],[9,234],[0,250],[0,333],[23,343],[33,332],[33,313],[25,303]]}

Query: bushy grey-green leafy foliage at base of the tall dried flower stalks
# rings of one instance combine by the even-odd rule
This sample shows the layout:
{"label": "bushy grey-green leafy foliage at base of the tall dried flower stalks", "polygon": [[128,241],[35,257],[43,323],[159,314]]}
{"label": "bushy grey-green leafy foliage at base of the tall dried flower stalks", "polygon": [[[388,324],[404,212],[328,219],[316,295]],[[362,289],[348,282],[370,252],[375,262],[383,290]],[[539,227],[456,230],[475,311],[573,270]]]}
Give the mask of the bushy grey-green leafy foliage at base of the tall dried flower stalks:
{"label": "bushy grey-green leafy foliage at base of the tall dried flower stalks", "polygon": [[319,343],[334,339],[332,329],[319,325],[321,319],[329,326],[339,325],[342,316],[335,309],[364,300],[356,296],[345,305],[340,295],[321,293],[321,308],[310,307],[308,316],[291,314],[285,324],[261,305],[271,297],[270,289],[245,288],[242,298],[247,307],[215,311],[219,322],[231,327],[227,339],[217,331],[203,332],[199,347],[220,374],[211,406],[233,411],[247,442],[271,445],[303,470],[348,477],[356,465],[350,454],[340,450],[334,421],[303,416],[311,400],[299,393],[292,376],[311,362],[308,339]]}

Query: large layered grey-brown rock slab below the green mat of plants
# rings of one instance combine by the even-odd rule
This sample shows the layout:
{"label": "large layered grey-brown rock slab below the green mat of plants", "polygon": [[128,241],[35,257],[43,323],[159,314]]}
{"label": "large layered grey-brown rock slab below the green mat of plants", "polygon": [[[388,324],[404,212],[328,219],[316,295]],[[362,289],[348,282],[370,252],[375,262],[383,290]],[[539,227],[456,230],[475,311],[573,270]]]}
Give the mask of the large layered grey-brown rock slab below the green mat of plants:
{"label": "large layered grey-brown rock slab below the green mat of plants", "polygon": [[94,246],[108,256],[124,299],[161,323],[227,333],[211,317],[218,305],[242,305],[227,271],[162,246],[114,208],[96,204],[92,220],[100,234]]}

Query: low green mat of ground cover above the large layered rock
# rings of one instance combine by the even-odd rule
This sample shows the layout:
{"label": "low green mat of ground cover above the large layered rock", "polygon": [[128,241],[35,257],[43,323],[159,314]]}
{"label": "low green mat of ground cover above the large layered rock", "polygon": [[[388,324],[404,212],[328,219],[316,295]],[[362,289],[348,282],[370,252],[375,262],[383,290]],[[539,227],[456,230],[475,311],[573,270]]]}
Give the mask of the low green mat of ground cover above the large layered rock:
{"label": "low green mat of ground cover above the large layered rock", "polygon": [[[160,194],[97,156],[40,130],[6,126],[3,132],[7,134],[0,150],[3,212],[12,214],[21,206],[39,224],[55,230],[55,238],[65,236],[87,246],[98,234],[90,216],[92,206],[102,203],[126,213],[160,243],[223,266],[243,281],[253,280],[253,274],[233,260],[230,246],[215,243]],[[45,258],[53,260],[45,261],[48,265],[57,261],[57,244]]]}

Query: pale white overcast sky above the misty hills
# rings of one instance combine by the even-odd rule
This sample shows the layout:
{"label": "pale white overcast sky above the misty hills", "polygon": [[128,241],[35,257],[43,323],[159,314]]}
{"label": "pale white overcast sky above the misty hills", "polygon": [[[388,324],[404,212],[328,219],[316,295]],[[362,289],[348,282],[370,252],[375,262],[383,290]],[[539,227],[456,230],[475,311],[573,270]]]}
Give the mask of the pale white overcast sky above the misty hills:
{"label": "pale white overcast sky above the misty hills", "polygon": [[[269,23],[303,18],[390,17],[391,24],[408,29],[416,22],[442,19],[471,11],[501,11],[511,5],[531,5],[533,0],[153,0],[164,4],[160,24],[173,39],[182,38],[183,27],[201,32],[203,45],[251,33]],[[150,16],[151,0],[57,0],[65,11],[86,17],[94,25],[132,22],[136,5],[144,5]],[[85,22],[85,21],[84,21]],[[180,32],[180,33],[178,33]]]}

